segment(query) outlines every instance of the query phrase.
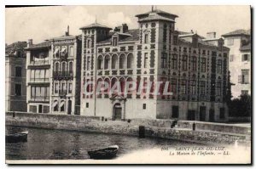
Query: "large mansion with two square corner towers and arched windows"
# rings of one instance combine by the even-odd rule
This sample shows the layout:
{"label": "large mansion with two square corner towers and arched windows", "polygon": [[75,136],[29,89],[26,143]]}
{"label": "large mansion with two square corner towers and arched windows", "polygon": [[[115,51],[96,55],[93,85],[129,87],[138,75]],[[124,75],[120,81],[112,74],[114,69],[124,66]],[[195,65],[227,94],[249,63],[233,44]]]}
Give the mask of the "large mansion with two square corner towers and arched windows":
{"label": "large mansion with two square corner towers and arched windows", "polygon": [[[194,32],[175,30],[177,15],[137,14],[138,29],[98,23],[82,31],[81,115],[226,121],[229,48]],[[172,95],[96,93],[86,82],[169,82]],[[86,95],[86,92],[94,92]]]}

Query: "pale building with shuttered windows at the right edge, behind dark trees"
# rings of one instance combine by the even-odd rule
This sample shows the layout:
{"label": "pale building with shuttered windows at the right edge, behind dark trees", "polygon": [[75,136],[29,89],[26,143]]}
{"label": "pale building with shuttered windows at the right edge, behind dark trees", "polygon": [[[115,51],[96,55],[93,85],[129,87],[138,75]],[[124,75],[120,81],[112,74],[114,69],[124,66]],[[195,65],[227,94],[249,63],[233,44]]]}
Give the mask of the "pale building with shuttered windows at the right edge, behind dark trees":
{"label": "pale building with shuttered windows at the right edge, behind dark trees", "polygon": [[224,34],[225,45],[230,48],[230,82],[233,98],[251,95],[251,35],[250,31],[236,30]]}

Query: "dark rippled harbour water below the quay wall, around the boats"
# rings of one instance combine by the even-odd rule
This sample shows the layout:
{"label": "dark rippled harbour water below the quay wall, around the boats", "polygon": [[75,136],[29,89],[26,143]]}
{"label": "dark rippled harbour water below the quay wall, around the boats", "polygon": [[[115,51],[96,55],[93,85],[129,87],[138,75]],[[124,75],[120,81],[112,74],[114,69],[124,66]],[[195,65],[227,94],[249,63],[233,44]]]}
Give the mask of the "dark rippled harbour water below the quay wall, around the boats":
{"label": "dark rippled harbour water below the quay wall, around the boats", "polygon": [[88,150],[119,145],[116,158],[143,149],[199,145],[160,138],[138,138],[94,132],[71,132],[30,127],[6,127],[6,132],[28,131],[27,142],[6,144],[6,160],[84,160]]}

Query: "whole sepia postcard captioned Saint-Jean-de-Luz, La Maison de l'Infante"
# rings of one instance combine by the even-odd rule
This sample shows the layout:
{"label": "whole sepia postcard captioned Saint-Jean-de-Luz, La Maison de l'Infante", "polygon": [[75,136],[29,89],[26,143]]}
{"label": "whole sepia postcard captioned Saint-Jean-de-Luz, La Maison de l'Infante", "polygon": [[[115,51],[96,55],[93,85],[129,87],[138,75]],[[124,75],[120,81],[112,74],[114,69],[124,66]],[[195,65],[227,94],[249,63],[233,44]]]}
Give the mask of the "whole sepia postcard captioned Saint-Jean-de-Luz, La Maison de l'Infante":
{"label": "whole sepia postcard captioned Saint-Jean-de-Luz, La Maison de l'Infante", "polygon": [[251,164],[250,6],[5,8],[8,164]]}

